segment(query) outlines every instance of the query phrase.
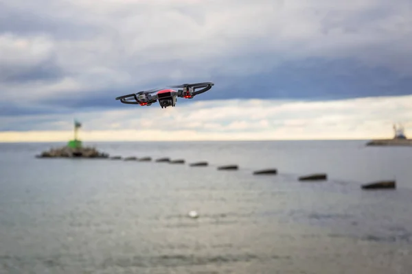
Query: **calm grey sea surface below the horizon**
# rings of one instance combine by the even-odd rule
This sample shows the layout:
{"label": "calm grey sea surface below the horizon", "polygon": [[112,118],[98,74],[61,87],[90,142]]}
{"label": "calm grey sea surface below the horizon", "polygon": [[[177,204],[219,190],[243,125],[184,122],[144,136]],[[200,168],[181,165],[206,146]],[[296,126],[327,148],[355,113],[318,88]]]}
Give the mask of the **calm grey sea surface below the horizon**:
{"label": "calm grey sea surface below the horizon", "polygon": [[[366,142],[84,142],[185,164],[0,144],[0,273],[410,274],[412,148]],[[298,180],[312,173],[328,179]]]}

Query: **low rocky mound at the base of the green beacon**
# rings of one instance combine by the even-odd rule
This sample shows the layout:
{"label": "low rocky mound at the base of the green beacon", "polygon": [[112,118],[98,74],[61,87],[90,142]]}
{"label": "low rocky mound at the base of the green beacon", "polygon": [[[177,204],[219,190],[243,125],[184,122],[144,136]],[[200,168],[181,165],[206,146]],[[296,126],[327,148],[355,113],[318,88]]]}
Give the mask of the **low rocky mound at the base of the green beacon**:
{"label": "low rocky mound at the base of the green beacon", "polygon": [[58,147],[43,151],[36,158],[108,158],[108,154],[94,147]]}

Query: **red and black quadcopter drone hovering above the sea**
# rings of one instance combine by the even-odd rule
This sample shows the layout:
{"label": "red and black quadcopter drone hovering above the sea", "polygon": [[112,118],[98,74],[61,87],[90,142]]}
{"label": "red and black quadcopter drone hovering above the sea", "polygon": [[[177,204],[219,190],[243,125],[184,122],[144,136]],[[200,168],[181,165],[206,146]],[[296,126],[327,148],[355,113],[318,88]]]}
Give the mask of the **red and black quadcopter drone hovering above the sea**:
{"label": "red and black quadcopter drone hovering above the sea", "polygon": [[[214,86],[214,83],[181,84],[177,86],[168,86],[168,88],[155,88],[152,90],[139,91],[130,95],[117,97],[116,100],[132,105],[152,105],[152,103],[159,101],[161,108],[174,107],[176,106],[177,97],[193,99],[196,95],[211,89],[211,86]],[[172,88],[182,89],[173,90]],[[201,90],[196,90],[199,88],[201,88]]]}

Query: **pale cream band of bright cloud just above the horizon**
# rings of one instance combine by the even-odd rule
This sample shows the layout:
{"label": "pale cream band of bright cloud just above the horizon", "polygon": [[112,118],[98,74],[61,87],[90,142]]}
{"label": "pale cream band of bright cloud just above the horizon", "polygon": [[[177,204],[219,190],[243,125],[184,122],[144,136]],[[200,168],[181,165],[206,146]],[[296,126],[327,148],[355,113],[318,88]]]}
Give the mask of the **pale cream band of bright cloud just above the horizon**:
{"label": "pale cream band of bright cloud just above the horizon", "polygon": [[[21,131],[0,133],[1,141],[65,141],[73,118],[83,123],[85,141],[110,140],[278,140],[391,138],[392,123],[412,115],[412,96],[369,97],[338,101],[220,100],[192,101],[176,108],[157,105],[123,110],[54,116],[20,116],[1,120]],[[28,131],[27,131],[28,129]]]}

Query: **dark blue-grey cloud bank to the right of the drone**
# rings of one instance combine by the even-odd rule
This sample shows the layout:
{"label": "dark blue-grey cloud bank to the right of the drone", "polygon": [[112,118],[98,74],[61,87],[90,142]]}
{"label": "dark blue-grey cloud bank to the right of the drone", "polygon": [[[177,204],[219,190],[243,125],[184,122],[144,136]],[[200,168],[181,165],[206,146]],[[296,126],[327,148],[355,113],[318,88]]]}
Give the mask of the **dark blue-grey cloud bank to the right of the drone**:
{"label": "dark blue-grey cloud bank to the right of the drone", "polygon": [[299,60],[285,62],[266,73],[214,77],[216,86],[203,99],[331,100],[359,97],[410,95],[412,76],[400,76],[385,67],[368,67],[356,60]]}

